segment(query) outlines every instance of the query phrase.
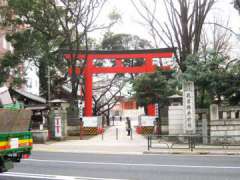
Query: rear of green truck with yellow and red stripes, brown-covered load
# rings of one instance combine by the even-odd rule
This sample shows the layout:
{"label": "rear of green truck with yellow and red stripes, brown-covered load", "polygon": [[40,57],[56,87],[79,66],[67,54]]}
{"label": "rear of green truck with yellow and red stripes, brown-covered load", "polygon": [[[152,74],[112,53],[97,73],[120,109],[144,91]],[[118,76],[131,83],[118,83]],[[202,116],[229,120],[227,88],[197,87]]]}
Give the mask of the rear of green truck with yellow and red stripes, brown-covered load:
{"label": "rear of green truck with yellow and red stripes, brown-covered load", "polygon": [[32,150],[30,110],[14,105],[0,108],[0,172],[13,168],[14,162],[28,158]]}

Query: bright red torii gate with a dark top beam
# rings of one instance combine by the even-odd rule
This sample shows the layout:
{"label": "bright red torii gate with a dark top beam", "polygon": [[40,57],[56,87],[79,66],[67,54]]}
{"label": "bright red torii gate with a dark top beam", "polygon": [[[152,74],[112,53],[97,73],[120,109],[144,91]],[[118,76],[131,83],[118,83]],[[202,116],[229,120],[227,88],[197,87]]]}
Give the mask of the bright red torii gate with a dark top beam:
{"label": "bright red torii gate with a dark top beam", "polygon": [[[172,58],[174,54],[173,48],[148,49],[148,50],[122,50],[122,51],[65,51],[64,58],[85,60],[83,75],[85,76],[85,116],[92,116],[92,76],[100,73],[149,73],[154,72],[155,66],[152,63],[153,58]],[[124,59],[144,59],[142,66],[125,67],[122,63]],[[99,59],[115,59],[114,67],[97,67],[93,64],[93,60]],[[80,74],[80,68],[76,67],[75,72]],[[68,68],[68,73],[72,73],[72,68]],[[155,115],[154,105],[148,106],[148,115]]]}

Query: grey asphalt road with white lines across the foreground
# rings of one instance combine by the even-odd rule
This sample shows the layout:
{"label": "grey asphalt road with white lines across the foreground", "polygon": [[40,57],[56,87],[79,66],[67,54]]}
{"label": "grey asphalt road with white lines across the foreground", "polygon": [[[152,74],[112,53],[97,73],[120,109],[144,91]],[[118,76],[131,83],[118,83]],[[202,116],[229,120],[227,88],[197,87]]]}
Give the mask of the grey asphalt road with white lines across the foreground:
{"label": "grey asphalt road with white lines across the foreground", "polygon": [[104,155],[34,152],[0,180],[232,180],[240,156]]}

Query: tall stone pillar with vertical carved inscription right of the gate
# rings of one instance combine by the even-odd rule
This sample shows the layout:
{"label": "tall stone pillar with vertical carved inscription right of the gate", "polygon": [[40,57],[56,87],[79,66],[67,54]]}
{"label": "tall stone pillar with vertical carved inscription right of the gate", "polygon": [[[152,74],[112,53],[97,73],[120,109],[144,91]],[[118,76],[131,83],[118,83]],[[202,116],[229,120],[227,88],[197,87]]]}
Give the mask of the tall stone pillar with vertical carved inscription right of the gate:
{"label": "tall stone pillar with vertical carved inscription right of the gate", "polygon": [[183,82],[184,133],[196,133],[194,83]]}

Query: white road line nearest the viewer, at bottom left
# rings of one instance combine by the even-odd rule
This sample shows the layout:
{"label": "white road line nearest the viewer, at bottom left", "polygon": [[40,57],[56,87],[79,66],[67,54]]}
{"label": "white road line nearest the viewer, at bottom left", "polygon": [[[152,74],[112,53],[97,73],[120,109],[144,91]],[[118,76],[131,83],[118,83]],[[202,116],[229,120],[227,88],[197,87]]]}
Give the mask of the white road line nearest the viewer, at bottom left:
{"label": "white road line nearest the viewer, at bottom left", "polygon": [[95,178],[95,177],[81,177],[81,176],[60,176],[60,175],[46,175],[46,174],[31,174],[19,172],[6,172],[0,174],[0,177],[22,177],[32,179],[49,179],[49,180],[127,180],[127,179],[112,179],[112,178]]}

